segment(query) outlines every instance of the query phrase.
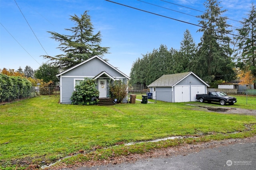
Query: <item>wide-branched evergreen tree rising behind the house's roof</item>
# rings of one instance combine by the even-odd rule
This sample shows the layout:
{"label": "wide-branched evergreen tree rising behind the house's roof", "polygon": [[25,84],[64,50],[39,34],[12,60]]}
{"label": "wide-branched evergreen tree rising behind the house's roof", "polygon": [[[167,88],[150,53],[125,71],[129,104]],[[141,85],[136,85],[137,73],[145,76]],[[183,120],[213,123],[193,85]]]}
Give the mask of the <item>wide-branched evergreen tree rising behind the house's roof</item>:
{"label": "wide-branched evergreen tree rising behind the house's roof", "polygon": [[62,69],[68,69],[95,55],[103,57],[104,54],[108,53],[109,47],[100,46],[101,33],[98,31],[94,34],[94,27],[87,12],[85,11],[81,18],[76,14],[70,16],[70,20],[74,21],[76,26],[65,30],[70,31],[72,35],[62,35],[48,31],[52,35],[51,38],[60,43],[58,49],[65,54],[56,55],[55,57],[44,55],[44,58],[49,59]]}

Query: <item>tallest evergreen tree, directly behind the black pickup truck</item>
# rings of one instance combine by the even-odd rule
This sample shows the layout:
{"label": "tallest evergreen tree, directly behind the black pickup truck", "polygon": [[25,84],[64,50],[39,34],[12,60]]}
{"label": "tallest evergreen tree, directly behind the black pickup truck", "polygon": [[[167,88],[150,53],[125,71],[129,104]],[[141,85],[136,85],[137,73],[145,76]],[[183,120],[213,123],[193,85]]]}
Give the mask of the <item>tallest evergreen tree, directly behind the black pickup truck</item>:
{"label": "tallest evergreen tree, directly behind the black pickup truck", "polygon": [[206,82],[234,78],[230,38],[224,33],[230,31],[227,30],[227,18],[222,17],[226,10],[221,10],[219,4],[218,0],[207,0],[204,3],[206,13],[200,16],[202,20],[199,24],[202,28],[198,29],[203,35],[191,63],[192,71]]}

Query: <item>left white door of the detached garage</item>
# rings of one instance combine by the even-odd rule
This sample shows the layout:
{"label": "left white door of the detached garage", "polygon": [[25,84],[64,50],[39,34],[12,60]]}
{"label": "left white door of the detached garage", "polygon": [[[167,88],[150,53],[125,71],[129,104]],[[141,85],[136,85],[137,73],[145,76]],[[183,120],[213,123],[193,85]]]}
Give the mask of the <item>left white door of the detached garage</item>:
{"label": "left white door of the detached garage", "polygon": [[174,102],[190,102],[189,86],[174,86]]}

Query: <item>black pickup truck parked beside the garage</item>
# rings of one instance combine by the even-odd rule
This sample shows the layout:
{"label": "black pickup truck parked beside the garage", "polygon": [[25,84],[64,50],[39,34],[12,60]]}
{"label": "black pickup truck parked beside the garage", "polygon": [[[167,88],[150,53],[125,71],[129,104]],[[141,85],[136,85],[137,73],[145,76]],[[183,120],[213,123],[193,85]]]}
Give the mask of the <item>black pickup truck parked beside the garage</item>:
{"label": "black pickup truck parked beside the garage", "polygon": [[199,102],[220,102],[220,105],[226,105],[226,103],[233,105],[236,103],[236,98],[228,96],[223,92],[209,92],[208,94],[196,94],[196,99]]}

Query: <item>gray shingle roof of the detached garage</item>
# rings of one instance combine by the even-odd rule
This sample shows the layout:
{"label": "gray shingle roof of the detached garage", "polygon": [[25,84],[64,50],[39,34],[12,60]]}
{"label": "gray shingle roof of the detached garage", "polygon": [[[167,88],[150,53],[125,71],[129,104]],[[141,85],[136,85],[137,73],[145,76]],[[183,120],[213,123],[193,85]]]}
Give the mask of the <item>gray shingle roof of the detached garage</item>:
{"label": "gray shingle roof of the detached garage", "polygon": [[152,82],[148,87],[172,87],[183,78],[188,76],[189,74],[194,74],[193,72],[182,72],[182,73],[176,73],[176,74],[164,74],[160,78],[158,78],[156,81]]}

